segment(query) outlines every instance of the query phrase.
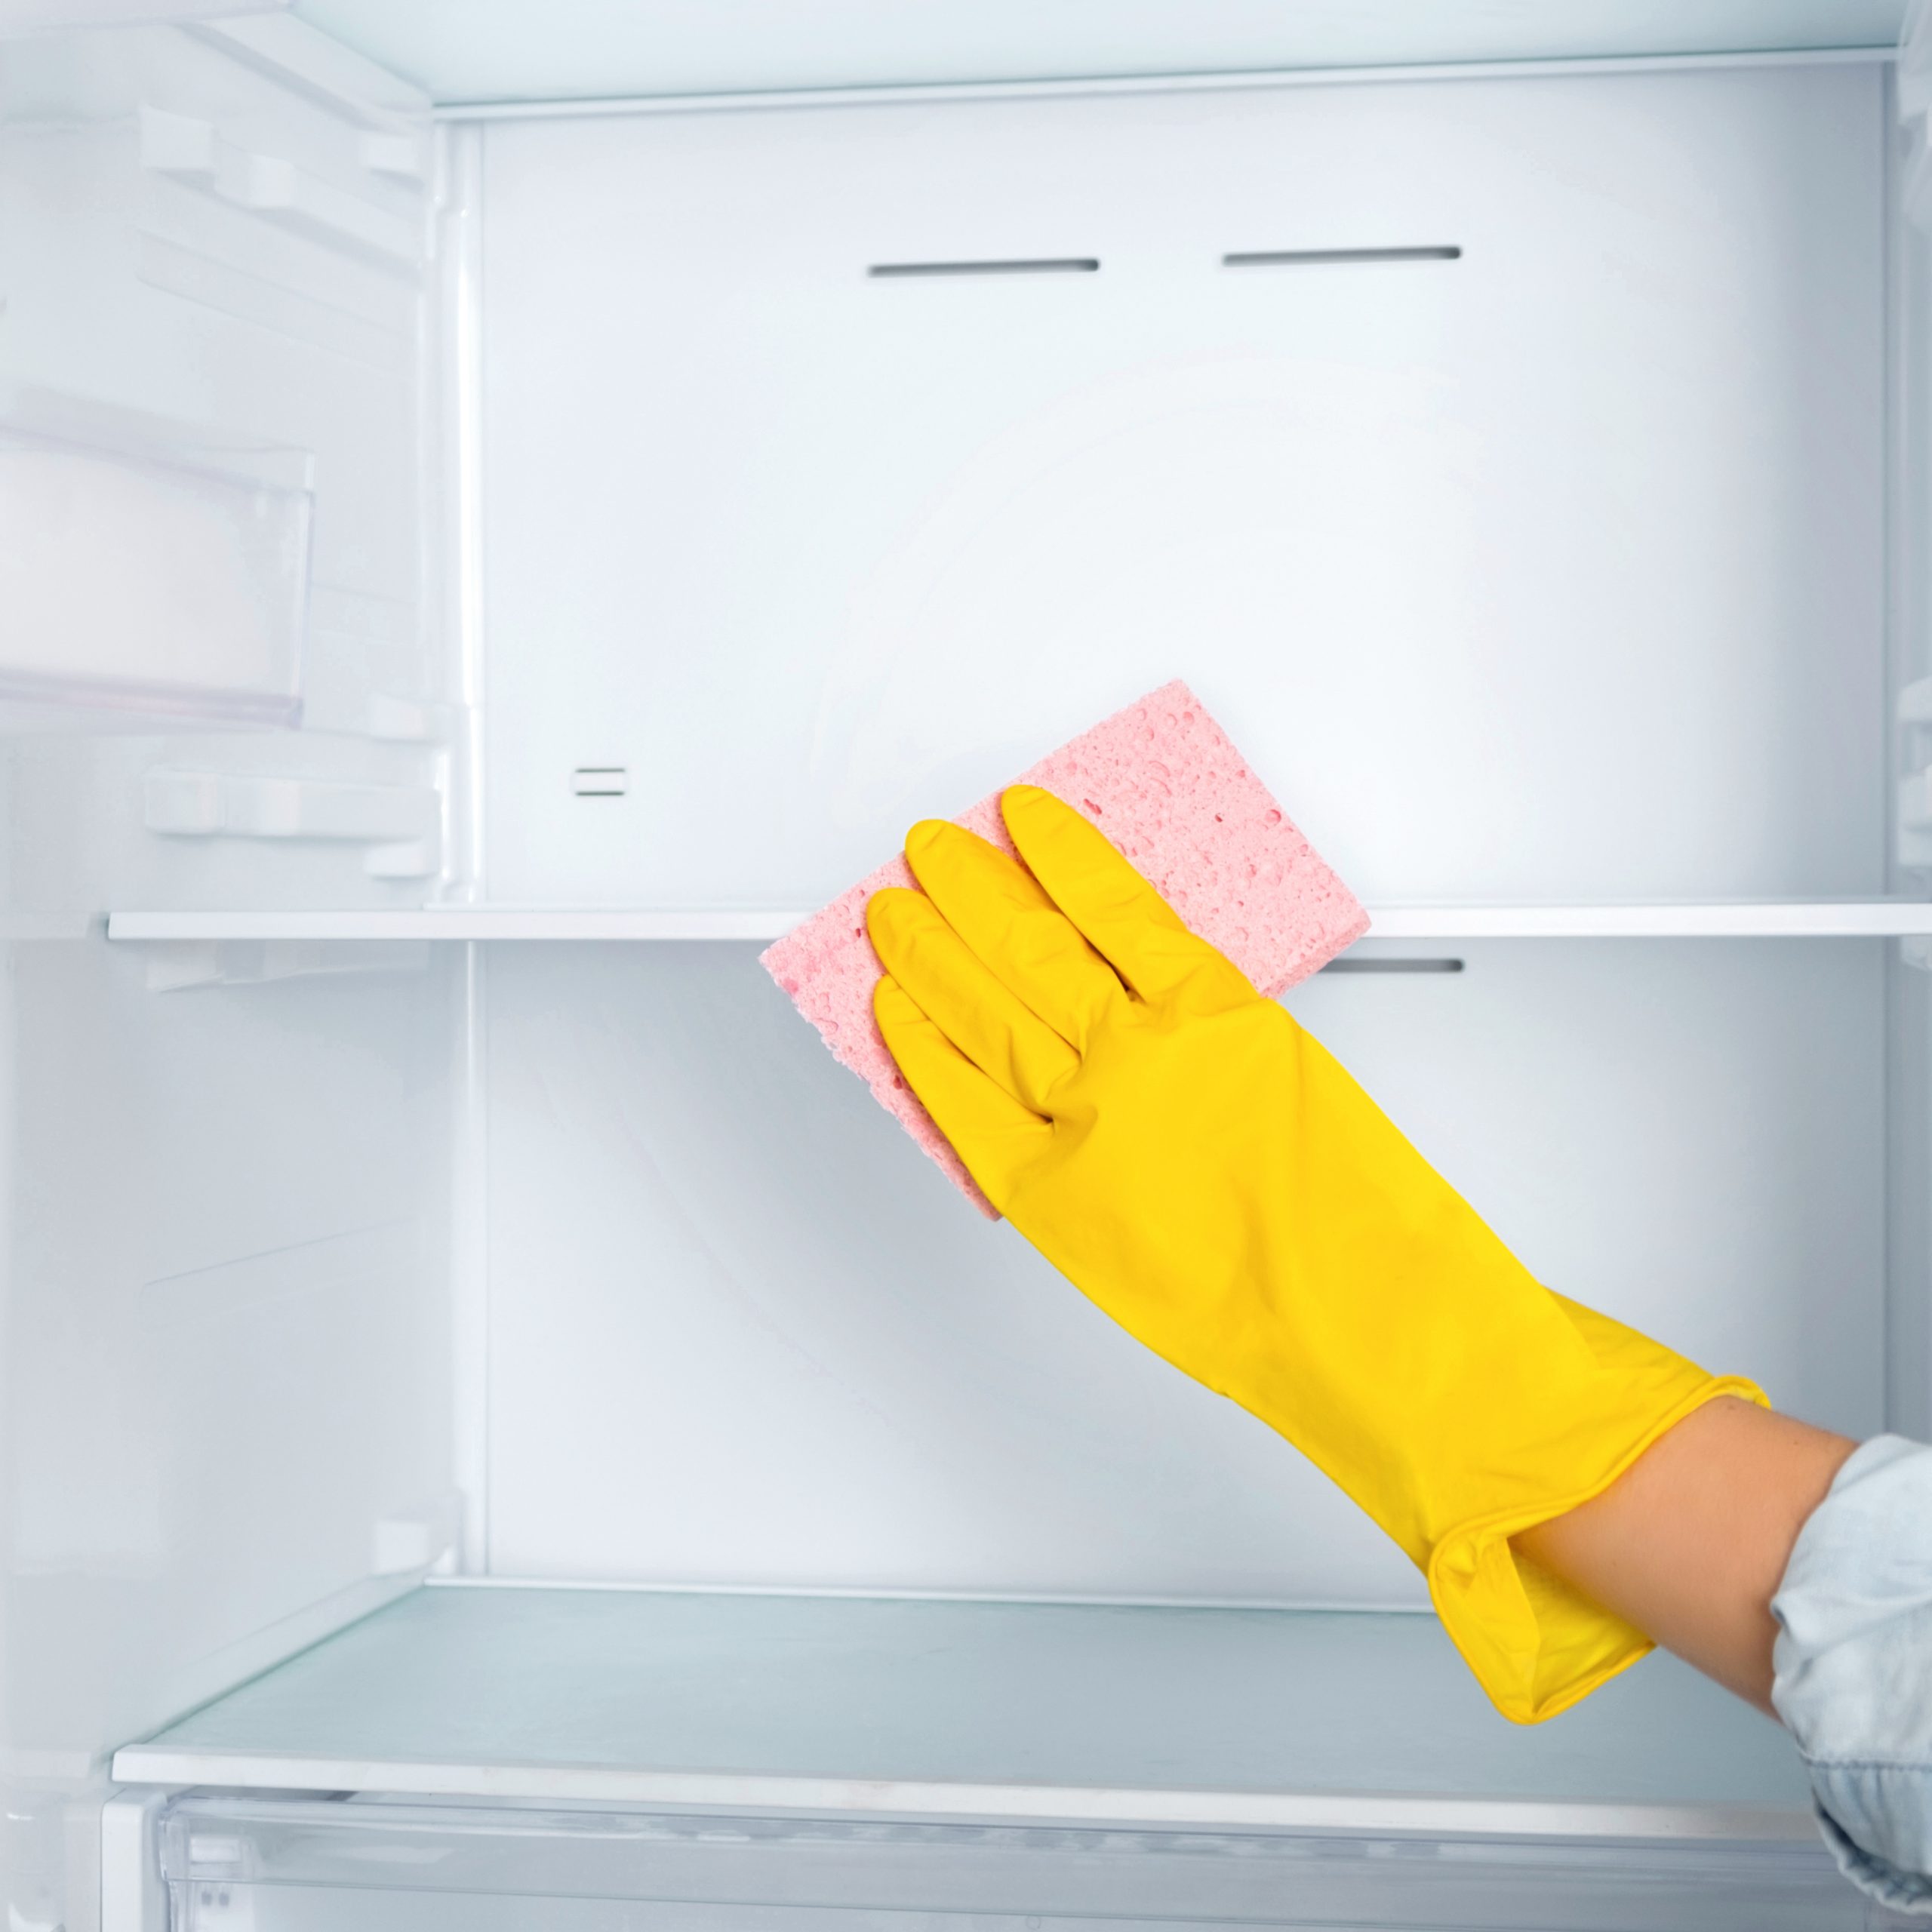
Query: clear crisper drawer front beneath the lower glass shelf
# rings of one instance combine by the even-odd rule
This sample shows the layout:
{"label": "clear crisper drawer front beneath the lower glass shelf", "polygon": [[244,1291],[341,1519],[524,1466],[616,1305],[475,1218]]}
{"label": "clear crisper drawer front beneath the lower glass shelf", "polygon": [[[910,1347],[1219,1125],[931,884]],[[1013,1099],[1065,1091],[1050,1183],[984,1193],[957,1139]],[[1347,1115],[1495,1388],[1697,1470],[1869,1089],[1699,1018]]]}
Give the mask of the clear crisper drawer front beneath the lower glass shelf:
{"label": "clear crisper drawer front beneath the lower glass shelf", "polygon": [[[1824,1847],[1082,1830],[195,1793],[174,1932],[1889,1924]],[[1905,1920],[1897,1920],[1903,1924]]]}

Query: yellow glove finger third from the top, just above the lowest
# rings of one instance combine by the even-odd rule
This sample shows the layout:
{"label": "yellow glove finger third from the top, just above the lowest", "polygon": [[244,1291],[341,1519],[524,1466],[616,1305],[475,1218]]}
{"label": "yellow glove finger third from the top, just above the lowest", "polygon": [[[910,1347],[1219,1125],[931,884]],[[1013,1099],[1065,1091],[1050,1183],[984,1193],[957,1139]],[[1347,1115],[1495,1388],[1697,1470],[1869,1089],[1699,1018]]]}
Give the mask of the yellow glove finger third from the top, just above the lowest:
{"label": "yellow glove finger third from the top, just above the lowest", "polygon": [[939,908],[923,893],[889,887],[867,900],[866,931],[939,1032],[1022,1107],[1047,1113],[1047,1094],[1080,1055],[993,978]]}

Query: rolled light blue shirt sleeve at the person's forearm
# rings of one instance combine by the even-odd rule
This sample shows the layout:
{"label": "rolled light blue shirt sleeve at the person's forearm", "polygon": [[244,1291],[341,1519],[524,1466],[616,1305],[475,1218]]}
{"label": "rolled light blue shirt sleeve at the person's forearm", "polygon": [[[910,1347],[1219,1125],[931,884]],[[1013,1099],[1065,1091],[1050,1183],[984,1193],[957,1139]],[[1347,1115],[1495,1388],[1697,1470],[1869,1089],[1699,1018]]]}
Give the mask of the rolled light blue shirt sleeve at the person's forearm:
{"label": "rolled light blue shirt sleeve at the person's forearm", "polygon": [[1845,1876],[1932,1915],[1932,1449],[1878,1435],[1799,1532],[1772,1702]]}

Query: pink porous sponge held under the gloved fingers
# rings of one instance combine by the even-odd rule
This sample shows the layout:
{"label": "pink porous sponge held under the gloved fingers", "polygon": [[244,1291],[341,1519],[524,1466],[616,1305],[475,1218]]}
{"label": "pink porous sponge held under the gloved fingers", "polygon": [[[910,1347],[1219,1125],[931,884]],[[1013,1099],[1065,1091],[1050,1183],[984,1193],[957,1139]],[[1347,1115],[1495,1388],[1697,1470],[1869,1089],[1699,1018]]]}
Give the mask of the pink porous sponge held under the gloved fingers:
{"label": "pink porous sponge held under the gloved fingers", "polygon": [[[1037,784],[1084,811],[1267,997],[1368,931],[1356,896],[1180,682],[1049,752],[1014,782]],[[997,792],[962,811],[958,823],[1012,852]],[[914,883],[904,858],[889,860],[767,949],[763,966],[825,1045],[991,1215],[993,1206],[912,1095],[871,1018],[881,970],[866,937],[866,900],[879,887]]]}

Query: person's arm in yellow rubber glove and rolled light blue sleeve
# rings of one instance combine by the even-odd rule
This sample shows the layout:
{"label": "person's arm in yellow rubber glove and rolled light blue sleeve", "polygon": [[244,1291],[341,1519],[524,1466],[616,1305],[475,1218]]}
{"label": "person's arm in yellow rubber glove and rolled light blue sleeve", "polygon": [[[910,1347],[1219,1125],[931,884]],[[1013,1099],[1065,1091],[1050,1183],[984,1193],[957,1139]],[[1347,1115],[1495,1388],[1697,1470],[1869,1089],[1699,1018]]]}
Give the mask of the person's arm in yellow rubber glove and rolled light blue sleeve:
{"label": "person's arm in yellow rubber glove and rolled light blue sleeve", "polygon": [[1859,1884],[1932,1905],[1932,1451],[1853,1451],[1542,1287],[1097,829],[1003,810],[1024,867],[929,823],[923,893],[867,906],[885,1043],[987,1198],[1327,1470],[1507,1716],[1660,1638],[1770,1698]]}

